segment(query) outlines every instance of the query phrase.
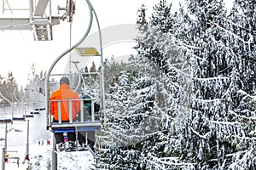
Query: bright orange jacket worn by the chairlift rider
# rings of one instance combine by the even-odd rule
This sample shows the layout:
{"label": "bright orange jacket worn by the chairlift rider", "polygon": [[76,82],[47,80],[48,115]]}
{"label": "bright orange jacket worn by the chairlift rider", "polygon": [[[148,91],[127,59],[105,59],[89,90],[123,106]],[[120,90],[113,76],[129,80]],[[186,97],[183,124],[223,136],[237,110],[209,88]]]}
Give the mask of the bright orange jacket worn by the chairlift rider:
{"label": "bright orange jacket worn by the chairlift rider", "polygon": [[[58,102],[54,99],[78,99],[72,101],[72,118],[74,119],[80,111],[79,94],[71,90],[67,83],[61,84],[60,89],[56,90],[50,96],[50,113],[54,116],[55,121],[58,121]],[[61,121],[69,121],[69,106],[68,101],[61,101]]]}

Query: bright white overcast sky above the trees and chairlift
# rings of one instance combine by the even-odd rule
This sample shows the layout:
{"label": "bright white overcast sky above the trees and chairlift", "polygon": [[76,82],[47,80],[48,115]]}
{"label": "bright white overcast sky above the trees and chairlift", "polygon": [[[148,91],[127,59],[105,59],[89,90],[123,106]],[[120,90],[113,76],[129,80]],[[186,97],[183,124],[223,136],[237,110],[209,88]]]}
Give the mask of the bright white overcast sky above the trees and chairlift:
{"label": "bright white overcast sky above the trees and chairlift", "polygon": [[[0,0],[1,3],[2,1]],[[20,1],[28,2],[28,0]],[[56,2],[63,2],[63,0],[52,0],[52,3]],[[72,25],[72,44],[78,42],[80,37],[84,35],[86,29],[85,20],[89,20],[85,16],[88,14],[85,0],[75,0],[75,2],[76,14],[74,15]],[[150,14],[152,6],[158,3],[159,0],[91,0],[90,2],[96,10],[101,28],[104,29],[115,25],[135,24],[137,20],[137,9],[144,3],[148,8],[147,14]],[[173,2],[172,9],[175,9],[179,1],[169,0],[167,2]],[[226,0],[226,2],[231,3],[230,0]],[[1,17],[3,14],[2,7],[0,8]],[[55,8],[52,10],[54,11]],[[33,63],[35,64],[37,73],[42,70],[48,71],[52,62],[69,48],[69,26],[67,20],[61,21],[61,24],[58,26],[53,26],[54,40],[49,42],[34,41],[32,31],[0,31],[0,75],[7,77],[8,72],[12,71],[19,85],[25,86]],[[96,31],[96,26],[93,29],[90,31],[91,33]],[[106,50],[103,49],[103,56],[135,54],[135,51],[131,50],[132,45],[129,42],[108,47]]]}

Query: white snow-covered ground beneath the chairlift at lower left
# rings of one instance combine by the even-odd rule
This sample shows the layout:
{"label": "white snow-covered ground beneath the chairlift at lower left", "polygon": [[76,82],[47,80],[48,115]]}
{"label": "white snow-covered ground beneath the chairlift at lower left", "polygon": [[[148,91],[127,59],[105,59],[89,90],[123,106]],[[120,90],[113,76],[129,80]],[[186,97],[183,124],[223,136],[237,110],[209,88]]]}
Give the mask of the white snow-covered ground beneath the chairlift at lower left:
{"label": "white snow-covered ground beneath the chairlift at lower left", "polygon": [[[34,118],[29,118],[29,158],[30,161],[25,160],[26,154],[26,122],[14,122],[8,124],[9,129],[18,129],[22,132],[15,132],[10,130],[7,135],[7,151],[9,157],[19,157],[19,166],[17,159],[9,159],[9,163],[5,163],[5,169],[19,170],[19,169],[51,169],[51,157],[52,157],[52,133],[46,130],[45,126],[45,113],[40,111],[39,115],[35,115]],[[0,138],[4,139],[5,124],[0,124]],[[47,144],[47,139],[50,139],[50,144]],[[4,146],[4,140],[0,142],[1,152]],[[2,153],[1,164],[2,167]],[[90,151],[78,151],[78,152],[59,152],[58,153],[58,170],[73,170],[73,169],[90,169],[93,166],[93,156]],[[31,167],[31,168],[28,168]]]}

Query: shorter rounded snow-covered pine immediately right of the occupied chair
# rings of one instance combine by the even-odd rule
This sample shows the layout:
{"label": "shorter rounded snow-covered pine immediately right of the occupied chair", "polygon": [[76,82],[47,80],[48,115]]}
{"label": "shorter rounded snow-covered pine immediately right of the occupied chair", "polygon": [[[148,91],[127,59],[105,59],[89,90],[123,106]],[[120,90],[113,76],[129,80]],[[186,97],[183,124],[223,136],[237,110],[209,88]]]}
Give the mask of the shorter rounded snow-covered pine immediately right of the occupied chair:
{"label": "shorter rounded snow-covered pine immediately right of the occupied chair", "polygon": [[[159,117],[154,116],[155,87],[143,72],[123,67],[113,78],[108,91],[108,123],[100,136],[104,149],[100,150],[100,168],[142,169],[143,143],[157,128]],[[127,70],[127,71],[125,71]],[[154,133],[154,131],[153,131]],[[144,148],[145,149],[145,148]]]}

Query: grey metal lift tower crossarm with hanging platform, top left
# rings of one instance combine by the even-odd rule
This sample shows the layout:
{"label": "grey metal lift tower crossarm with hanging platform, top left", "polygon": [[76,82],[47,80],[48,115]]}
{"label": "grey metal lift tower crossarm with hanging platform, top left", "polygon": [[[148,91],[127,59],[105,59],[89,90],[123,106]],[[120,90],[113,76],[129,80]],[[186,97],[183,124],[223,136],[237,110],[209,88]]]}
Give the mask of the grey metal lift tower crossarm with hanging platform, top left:
{"label": "grey metal lift tower crossarm with hanging platform, top left", "polygon": [[[38,0],[37,5],[34,7],[35,0],[29,0],[29,8],[25,9],[12,9],[9,4],[9,9],[5,8],[5,0],[3,1],[3,13],[5,10],[27,10],[29,17],[12,17],[0,18],[0,30],[32,30],[34,40],[36,41],[50,41],[52,40],[52,26],[59,25],[60,20],[67,19],[68,22],[73,21],[73,14],[75,12],[75,3],[73,0],[67,1],[67,8],[63,16],[52,16],[51,1]],[[8,2],[7,2],[8,3]],[[49,16],[46,16],[46,9],[49,7]],[[58,8],[57,8],[58,9]]]}

